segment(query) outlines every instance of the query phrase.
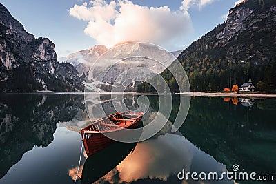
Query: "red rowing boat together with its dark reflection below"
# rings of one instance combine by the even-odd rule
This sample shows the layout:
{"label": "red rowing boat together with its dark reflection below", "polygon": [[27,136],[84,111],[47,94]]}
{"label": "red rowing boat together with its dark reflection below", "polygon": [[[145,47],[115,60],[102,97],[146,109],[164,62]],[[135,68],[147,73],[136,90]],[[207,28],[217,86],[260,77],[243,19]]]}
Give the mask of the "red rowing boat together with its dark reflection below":
{"label": "red rowing boat together with its dark reflection below", "polygon": [[[125,128],[141,127],[141,117],[143,112],[134,114],[132,112],[115,113],[104,119],[99,119],[93,124],[88,125],[81,130],[83,145],[88,158],[84,163],[81,174],[81,183],[90,184],[105,176],[121,161],[123,161],[130,152],[135,149],[136,143],[122,143],[114,141],[99,130],[116,136],[126,136]],[[141,132],[135,135],[135,140],[139,140]],[[132,135],[127,135],[132,136]]]}

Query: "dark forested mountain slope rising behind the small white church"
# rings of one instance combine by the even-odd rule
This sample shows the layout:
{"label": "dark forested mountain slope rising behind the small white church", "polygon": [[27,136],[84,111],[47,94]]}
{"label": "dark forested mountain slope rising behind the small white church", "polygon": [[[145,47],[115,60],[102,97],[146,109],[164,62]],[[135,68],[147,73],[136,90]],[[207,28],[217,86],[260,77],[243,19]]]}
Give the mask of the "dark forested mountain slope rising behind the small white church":
{"label": "dark forested mountain slope rising behind the small white church", "polygon": [[[275,92],[275,25],[276,1],[248,0],[231,8],[225,23],[194,41],[178,57],[191,91],[240,86],[251,76],[259,90]],[[170,67],[173,69],[174,64]],[[172,92],[179,91],[168,70],[161,76]],[[139,89],[139,92],[151,91],[147,83]]]}

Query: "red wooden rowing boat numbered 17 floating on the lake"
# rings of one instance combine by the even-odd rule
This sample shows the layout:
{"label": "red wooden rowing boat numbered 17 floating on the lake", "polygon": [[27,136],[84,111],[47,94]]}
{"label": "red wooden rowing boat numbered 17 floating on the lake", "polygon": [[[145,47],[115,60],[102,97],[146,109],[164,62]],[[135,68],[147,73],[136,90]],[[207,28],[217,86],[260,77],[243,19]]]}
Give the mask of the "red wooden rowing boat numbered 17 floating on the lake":
{"label": "red wooden rowing boat numbered 17 floating on the lake", "polygon": [[98,119],[91,125],[83,128],[81,130],[81,137],[83,138],[86,154],[91,156],[114,143],[115,141],[108,138],[108,136],[126,136],[126,132],[124,132],[125,128],[134,129],[138,127],[143,115],[143,112],[117,112],[103,119]]}

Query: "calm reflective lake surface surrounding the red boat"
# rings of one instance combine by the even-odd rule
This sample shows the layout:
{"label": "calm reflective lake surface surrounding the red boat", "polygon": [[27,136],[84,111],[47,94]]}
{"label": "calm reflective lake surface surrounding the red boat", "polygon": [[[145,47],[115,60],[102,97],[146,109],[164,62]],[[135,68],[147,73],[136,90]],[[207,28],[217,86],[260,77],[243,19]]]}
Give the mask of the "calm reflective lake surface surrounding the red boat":
{"label": "calm reflective lake surface surrounding the red boat", "polygon": [[[91,110],[115,112],[113,97],[101,94]],[[138,97],[128,94],[120,103],[135,110]],[[180,97],[172,95],[172,112],[155,136],[115,143],[86,159],[79,132],[90,119],[83,94],[1,94],[0,183],[74,183],[80,153],[83,183],[273,183],[179,179],[183,170],[220,176],[233,165],[275,181],[276,99],[191,96],[184,124],[172,133]],[[144,124],[154,119],[163,97],[147,98]]]}

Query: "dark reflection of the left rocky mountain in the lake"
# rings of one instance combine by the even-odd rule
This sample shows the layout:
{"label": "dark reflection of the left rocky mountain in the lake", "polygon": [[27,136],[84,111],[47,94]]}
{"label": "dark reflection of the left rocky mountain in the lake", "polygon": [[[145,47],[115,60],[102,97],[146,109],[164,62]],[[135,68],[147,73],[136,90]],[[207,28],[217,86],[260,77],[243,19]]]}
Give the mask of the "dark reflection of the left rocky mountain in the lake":
{"label": "dark reflection of the left rocky mountain in the lake", "polygon": [[84,110],[81,95],[1,94],[0,178],[32,147],[53,141],[56,123]]}

